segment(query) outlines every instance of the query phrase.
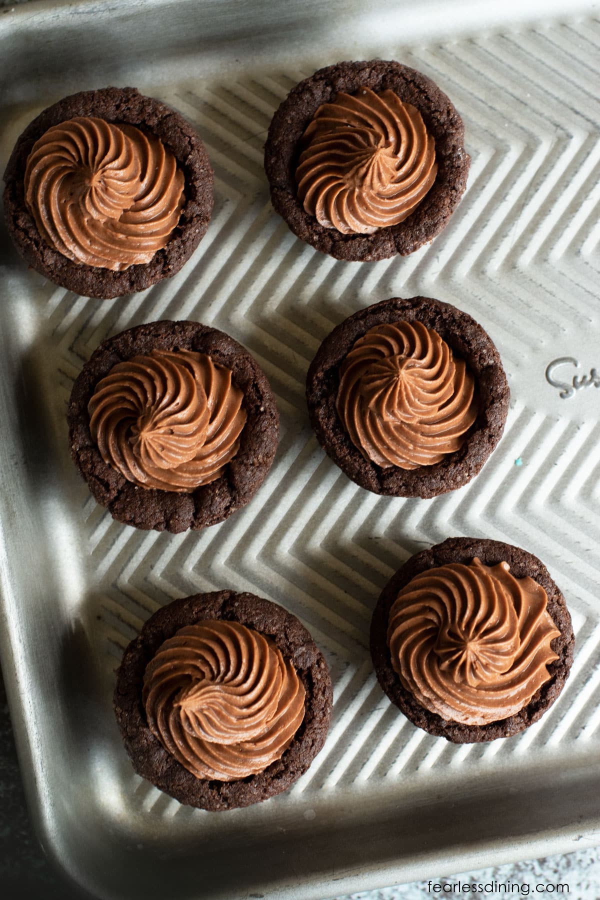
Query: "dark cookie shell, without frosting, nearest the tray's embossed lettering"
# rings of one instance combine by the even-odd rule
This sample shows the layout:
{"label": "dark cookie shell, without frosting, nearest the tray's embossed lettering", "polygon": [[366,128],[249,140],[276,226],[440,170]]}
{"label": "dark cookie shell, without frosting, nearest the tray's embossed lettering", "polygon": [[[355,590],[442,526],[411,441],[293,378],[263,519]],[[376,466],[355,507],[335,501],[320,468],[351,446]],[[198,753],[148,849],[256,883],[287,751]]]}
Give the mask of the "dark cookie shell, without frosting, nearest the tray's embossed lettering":
{"label": "dark cookie shell, without frosting, nearest the tray's embossed lettering", "polygon": [[[382,467],[366,458],[336,410],[340,367],[355,343],[370,329],[402,321],[433,329],[454,359],[464,363],[474,381],[477,410],[458,449],[440,462],[411,469]],[[376,494],[430,498],[460,488],[479,473],[502,437],[510,392],[496,347],[470,315],[430,297],[393,297],[355,312],[325,338],[309,366],[306,396],[319,444],[353,482]]]}

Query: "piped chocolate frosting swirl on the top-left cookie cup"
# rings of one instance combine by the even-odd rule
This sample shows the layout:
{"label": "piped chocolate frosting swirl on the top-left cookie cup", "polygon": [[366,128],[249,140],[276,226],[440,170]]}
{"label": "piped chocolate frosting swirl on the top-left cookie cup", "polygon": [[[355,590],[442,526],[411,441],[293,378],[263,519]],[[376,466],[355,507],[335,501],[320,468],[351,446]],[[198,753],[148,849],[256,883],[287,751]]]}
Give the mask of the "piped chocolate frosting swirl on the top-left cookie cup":
{"label": "piped chocolate frosting swirl on the top-left cookie cup", "polygon": [[184,205],[184,173],[163,143],[103,119],[49,128],[31,149],[24,185],[50,247],[114,272],[149,263]]}

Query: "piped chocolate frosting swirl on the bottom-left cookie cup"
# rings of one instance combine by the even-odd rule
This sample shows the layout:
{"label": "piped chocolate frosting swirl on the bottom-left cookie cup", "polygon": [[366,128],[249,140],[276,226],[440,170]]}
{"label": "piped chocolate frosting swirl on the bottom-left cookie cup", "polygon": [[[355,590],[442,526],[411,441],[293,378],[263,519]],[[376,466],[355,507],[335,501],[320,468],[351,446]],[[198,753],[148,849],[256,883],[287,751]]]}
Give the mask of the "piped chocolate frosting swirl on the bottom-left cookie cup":
{"label": "piped chocolate frosting swirl on the bottom-left cookie cup", "polygon": [[150,731],[185,769],[232,781],[281,759],[304,718],[305,693],[270,638],[207,620],[161,644],[142,701]]}

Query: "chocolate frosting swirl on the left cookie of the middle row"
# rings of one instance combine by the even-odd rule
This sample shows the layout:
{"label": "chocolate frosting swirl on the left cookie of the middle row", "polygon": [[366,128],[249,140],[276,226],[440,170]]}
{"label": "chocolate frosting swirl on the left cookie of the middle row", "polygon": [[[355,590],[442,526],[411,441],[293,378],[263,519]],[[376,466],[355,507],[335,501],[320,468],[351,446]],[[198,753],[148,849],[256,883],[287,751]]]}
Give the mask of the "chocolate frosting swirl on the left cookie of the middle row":
{"label": "chocolate frosting swirl on the left cookie of the middle row", "polygon": [[219,478],[246,424],[243,392],[210,356],[152,350],[114,365],[88,404],[105,463],[142,488],[189,493]]}

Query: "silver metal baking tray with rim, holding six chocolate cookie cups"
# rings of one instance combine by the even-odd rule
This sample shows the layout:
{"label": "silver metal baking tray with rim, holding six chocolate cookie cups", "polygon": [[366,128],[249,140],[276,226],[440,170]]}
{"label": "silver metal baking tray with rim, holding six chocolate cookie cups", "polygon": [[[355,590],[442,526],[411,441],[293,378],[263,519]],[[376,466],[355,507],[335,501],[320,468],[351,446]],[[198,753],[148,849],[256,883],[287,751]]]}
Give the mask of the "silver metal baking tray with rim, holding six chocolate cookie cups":
{"label": "silver metal baking tray with rim, holding six chocolate cookie cups", "polygon": [[[193,121],[216,174],[210,229],[191,261],[129,298],[86,300],[49,284],[3,231],[4,678],[40,840],[93,896],[321,900],[600,842],[600,391],[560,396],[561,383],[600,368],[596,8],[152,0],[0,15],[4,161],[60,96],[133,84]],[[430,247],[345,264],[273,213],[262,147],[300,77],[376,56],[450,94],[473,162]],[[349,482],[318,447],[303,399],[309,360],[333,326],[414,294],[482,323],[513,395],[482,473],[435,500],[379,498]],[[161,318],[240,340],[282,414],[255,500],[200,534],[113,522],[68,454],[67,398],[84,361],[106,336]],[[559,701],[506,741],[454,746],[425,734],[372,672],[367,635],[382,585],[450,535],[539,555],[572,612],[576,659]],[[290,791],[214,815],[133,773],[112,688],[123,648],[158,606],[225,587],[300,616],[327,656],[335,709],[324,751]]]}

